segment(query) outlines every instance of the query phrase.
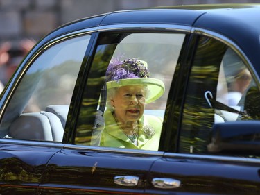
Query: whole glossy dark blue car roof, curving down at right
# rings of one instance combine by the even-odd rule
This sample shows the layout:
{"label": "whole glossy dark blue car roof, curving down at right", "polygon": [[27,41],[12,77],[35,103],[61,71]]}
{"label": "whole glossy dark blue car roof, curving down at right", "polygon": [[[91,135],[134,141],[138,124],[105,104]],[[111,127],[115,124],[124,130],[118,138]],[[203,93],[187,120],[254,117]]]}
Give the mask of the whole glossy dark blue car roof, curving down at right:
{"label": "whole glossy dark blue car roof, curving down at right", "polygon": [[[177,24],[208,29],[235,42],[252,64],[260,64],[260,59],[255,58],[260,53],[260,4],[169,6],[116,11],[65,24],[44,40],[84,28],[120,24]],[[260,65],[256,69],[260,72]]]}

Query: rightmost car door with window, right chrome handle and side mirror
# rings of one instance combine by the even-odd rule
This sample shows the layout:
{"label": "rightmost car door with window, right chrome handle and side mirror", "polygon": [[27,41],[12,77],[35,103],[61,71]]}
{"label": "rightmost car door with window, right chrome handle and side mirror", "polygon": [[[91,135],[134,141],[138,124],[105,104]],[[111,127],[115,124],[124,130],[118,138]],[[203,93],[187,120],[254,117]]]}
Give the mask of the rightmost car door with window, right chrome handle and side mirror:
{"label": "rightmost car door with window, right chrome handle and side mirror", "polygon": [[[153,164],[146,193],[259,194],[256,73],[234,43],[216,34],[191,42],[187,90],[181,90],[164,131],[169,138],[162,148],[171,152]],[[176,105],[182,105],[182,115],[174,121]]]}

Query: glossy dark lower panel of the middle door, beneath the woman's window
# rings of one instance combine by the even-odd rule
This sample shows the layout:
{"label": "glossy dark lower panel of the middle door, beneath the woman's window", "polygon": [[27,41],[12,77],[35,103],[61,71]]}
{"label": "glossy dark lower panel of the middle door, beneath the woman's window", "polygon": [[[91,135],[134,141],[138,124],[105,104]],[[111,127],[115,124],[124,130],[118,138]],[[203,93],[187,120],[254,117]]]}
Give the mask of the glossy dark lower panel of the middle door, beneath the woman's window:
{"label": "glossy dark lower panel of the middle door, beneath the woman's window", "polygon": [[[69,187],[74,194],[79,191],[89,194],[110,194],[116,191],[121,194],[127,192],[141,194],[146,187],[148,171],[153,162],[159,158],[158,153],[138,154],[130,150],[114,153],[107,149],[90,148],[86,151],[65,147],[51,158],[44,171],[40,191],[49,192],[51,189],[56,193],[63,192],[62,188]],[[138,185],[135,187],[116,185],[114,177],[121,175],[139,177]]]}

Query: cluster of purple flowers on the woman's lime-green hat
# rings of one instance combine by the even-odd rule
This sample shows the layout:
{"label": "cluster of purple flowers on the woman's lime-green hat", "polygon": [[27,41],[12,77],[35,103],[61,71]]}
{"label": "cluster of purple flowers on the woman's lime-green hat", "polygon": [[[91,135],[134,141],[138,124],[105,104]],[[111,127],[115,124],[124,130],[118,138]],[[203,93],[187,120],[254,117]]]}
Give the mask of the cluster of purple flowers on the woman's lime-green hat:
{"label": "cluster of purple flowers on the woman's lime-green hat", "polygon": [[144,62],[132,58],[128,60],[119,60],[112,58],[106,71],[106,81],[121,80],[125,78],[148,78],[150,73]]}

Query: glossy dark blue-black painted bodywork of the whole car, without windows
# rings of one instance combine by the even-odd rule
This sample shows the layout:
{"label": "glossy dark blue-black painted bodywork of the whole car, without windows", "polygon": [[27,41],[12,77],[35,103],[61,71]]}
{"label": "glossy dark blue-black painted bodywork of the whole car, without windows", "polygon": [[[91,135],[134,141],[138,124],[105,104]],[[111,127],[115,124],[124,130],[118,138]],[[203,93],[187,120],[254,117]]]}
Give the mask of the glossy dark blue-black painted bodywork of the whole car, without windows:
{"label": "glossy dark blue-black painted bodywork of the whole car, without windows", "polygon": [[[110,28],[110,25],[121,24],[173,24],[189,28],[197,27],[215,31],[235,42],[248,56],[257,74],[260,75],[260,44],[259,40],[260,11],[259,8],[241,6],[232,10],[224,8],[211,10],[202,6],[180,10],[180,8],[159,10],[131,10],[114,12],[88,19],[81,19],[64,25],[44,37],[28,54],[17,70],[14,79],[10,81],[5,94],[2,95],[0,107],[6,103],[14,83],[19,79],[20,71],[26,62],[33,58],[47,42],[86,28]],[[248,12],[246,17],[241,17]],[[246,26],[246,28],[245,28]],[[250,28],[250,30],[248,30]],[[96,43],[96,39],[92,39]],[[194,44],[193,40],[189,44]],[[193,46],[187,46],[192,50]],[[83,65],[92,58],[94,45],[88,49]],[[187,65],[191,57],[183,59]],[[186,68],[188,69],[188,67]],[[84,68],[83,68],[84,70]],[[82,71],[83,71],[82,70]],[[81,74],[84,81],[84,76]],[[78,85],[81,82],[79,81]],[[180,81],[180,80],[179,80]],[[182,80],[183,81],[183,80]],[[180,83],[179,83],[180,84]],[[185,83],[182,82],[182,85]],[[81,83],[82,85],[82,83]],[[184,87],[184,86],[183,86]],[[77,88],[80,91],[80,86]],[[76,92],[78,92],[76,91]],[[179,98],[179,99],[178,99]],[[176,97],[180,103],[180,97]],[[71,108],[67,128],[73,131],[78,115],[76,102],[78,96],[73,96],[75,102]],[[177,104],[176,103],[176,104]],[[168,112],[171,113],[171,112]],[[169,116],[169,114],[167,114]],[[177,119],[175,120],[175,122]],[[168,126],[170,126],[169,124]],[[177,135],[174,135],[177,136]],[[72,136],[73,138],[73,136]],[[198,155],[173,155],[173,153],[137,153],[137,151],[121,151],[102,148],[87,148],[69,146],[73,143],[71,137],[64,139],[62,145],[38,144],[31,142],[1,142],[1,194],[259,194],[260,165],[257,160],[245,159],[236,161],[232,158],[212,158]],[[169,139],[166,139],[168,143]],[[162,147],[166,148],[166,147]],[[12,164],[10,168],[10,164]],[[114,184],[114,176],[135,175],[141,180],[137,187],[122,187]],[[182,180],[179,189],[156,189],[151,184],[155,177],[175,178]],[[4,180],[4,182],[3,182]],[[38,188],[39,185],[39,188]]]}

